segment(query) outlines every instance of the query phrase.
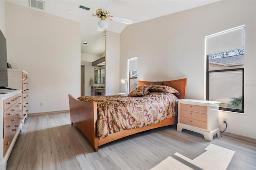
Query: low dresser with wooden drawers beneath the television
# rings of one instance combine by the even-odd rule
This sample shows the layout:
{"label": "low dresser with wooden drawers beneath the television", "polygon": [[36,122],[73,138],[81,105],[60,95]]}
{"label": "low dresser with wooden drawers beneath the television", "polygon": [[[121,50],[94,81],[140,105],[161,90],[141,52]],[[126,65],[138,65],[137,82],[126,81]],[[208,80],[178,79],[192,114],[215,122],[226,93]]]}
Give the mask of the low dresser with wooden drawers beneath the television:
{"label": "low dresser with wooden drawers beneath the television", "polygon": [[22,129],[22,90],[0,89],[0,170],[6,163]]}

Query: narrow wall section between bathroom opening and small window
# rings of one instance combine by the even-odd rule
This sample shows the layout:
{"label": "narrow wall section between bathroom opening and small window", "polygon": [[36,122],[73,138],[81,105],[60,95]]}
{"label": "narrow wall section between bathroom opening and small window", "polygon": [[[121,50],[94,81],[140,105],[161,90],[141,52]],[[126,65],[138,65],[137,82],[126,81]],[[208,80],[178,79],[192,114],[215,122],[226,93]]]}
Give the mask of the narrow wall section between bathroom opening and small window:
{"label": "narrow wall section between bathroom opening and small window", "polygon": [[105,95],[119,93],[120,34],[106,31],[106,84]]}

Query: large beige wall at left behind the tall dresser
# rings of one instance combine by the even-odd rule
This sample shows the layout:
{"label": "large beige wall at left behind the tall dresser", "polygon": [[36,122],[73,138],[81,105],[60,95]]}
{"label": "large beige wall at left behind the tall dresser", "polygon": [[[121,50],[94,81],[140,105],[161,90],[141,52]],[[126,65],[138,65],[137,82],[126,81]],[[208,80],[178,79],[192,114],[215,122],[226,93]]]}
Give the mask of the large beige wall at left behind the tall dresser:
{"label": "large beige wall at left behind the tall dresser", "polygon": [[5,5],[7,60],[28,72],[28,113],[69,110],[68,94],[80,95],[80,23]]}

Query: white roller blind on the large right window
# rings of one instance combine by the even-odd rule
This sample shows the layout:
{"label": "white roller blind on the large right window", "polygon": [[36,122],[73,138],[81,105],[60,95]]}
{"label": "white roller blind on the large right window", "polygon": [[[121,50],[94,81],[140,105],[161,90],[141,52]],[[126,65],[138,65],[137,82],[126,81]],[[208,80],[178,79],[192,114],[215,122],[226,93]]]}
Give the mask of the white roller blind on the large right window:
{"label": "white roller blind on the large right window", "polygon": [[244,26],[206,37],[206,54],[244,47]]}

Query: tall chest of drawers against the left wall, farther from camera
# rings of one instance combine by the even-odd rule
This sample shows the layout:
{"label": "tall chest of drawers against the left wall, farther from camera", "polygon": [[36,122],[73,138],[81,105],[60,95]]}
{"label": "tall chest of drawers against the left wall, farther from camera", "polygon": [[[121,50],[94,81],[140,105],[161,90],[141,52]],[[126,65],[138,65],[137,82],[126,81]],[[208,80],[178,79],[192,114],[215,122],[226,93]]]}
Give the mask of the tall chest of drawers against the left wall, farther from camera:
{"label": "tall chest of drawers against the left wall, farther from camera", "polygon": [[22,90],[22,123],[28,117],[28,73],[22,69],[8,69],[8,88]]}

